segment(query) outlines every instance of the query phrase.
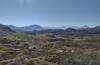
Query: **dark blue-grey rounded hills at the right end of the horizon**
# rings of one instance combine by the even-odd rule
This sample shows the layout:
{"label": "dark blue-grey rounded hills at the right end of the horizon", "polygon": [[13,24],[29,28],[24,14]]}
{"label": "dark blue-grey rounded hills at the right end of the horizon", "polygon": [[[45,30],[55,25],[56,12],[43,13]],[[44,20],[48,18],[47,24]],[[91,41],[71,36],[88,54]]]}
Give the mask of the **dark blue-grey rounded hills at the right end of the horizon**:
{"label": "dark blue-grey rounded hills at the right end of the horizon", "polygon": [[84,26],[78,29],[67,28],[65,31],[67,33],[73,33],[73,34],[100,34],[100,26],[96,27]]}

